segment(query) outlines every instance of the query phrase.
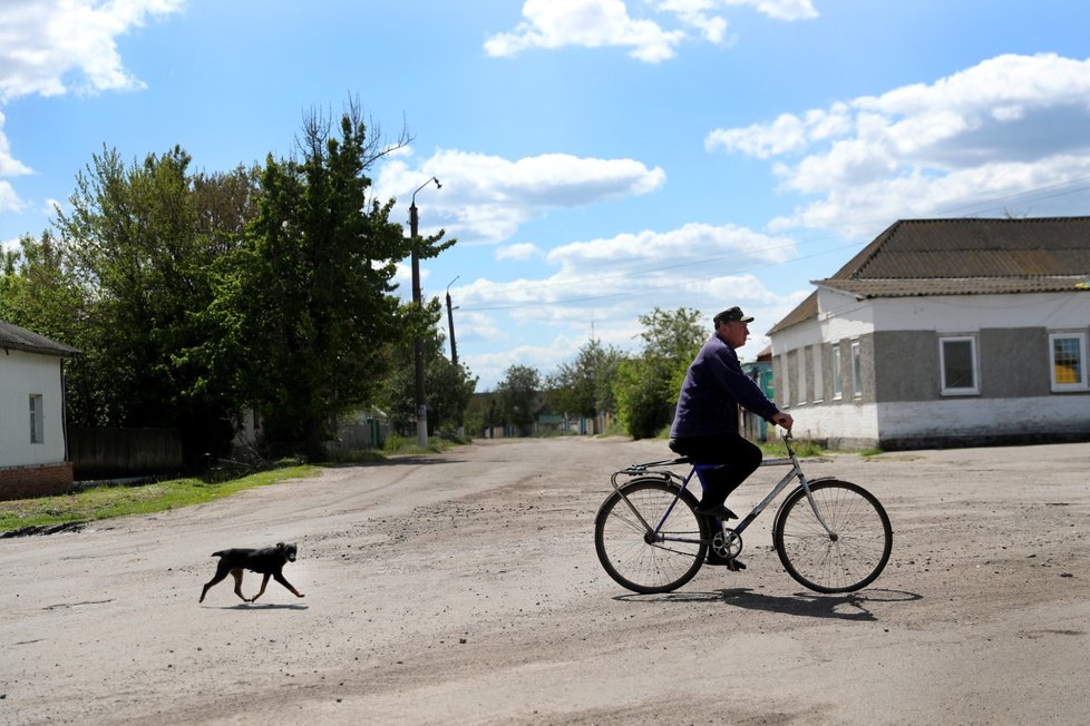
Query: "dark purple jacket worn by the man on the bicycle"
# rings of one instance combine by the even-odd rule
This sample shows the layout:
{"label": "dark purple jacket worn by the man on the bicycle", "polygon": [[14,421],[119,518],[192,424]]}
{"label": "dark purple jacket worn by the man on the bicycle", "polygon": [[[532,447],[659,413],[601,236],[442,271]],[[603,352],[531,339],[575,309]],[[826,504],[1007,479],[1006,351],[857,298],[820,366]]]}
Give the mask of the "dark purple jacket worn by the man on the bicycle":
{"label": "dark purple jacket worn by the man on the bicycle", "polygon": [[738,433],[739,404],[766,421],[780,412],[742,372],[734,349],[712,335],[685,372],[670,438]]}

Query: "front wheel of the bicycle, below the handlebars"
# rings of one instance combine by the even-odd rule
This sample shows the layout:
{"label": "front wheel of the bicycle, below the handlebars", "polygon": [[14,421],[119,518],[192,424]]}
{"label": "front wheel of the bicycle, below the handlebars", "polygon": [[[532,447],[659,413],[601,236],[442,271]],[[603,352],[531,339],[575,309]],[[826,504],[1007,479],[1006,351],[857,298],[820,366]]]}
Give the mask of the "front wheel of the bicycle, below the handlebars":
{"label": "front wheel of the bicycle, below the handlebars", "polygon": [[788,575],[817,592],[853,592],[874,582],[889,561],[893,528],[874,494],[847,481],[799,487],[772,527],[772,543]]}

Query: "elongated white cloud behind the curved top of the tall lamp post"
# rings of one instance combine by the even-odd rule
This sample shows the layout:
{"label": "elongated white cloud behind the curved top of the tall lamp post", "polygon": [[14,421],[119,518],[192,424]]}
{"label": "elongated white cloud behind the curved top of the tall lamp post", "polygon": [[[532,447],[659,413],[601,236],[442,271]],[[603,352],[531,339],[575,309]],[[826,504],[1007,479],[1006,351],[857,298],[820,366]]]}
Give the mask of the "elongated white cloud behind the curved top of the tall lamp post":
{"label": "elongated white cloud behind the curved top of the tall lamp post", "polygon": [[633,159],[595,159],[544,154],[512,161],[485,154],[438,150],[417,167],[387,161],[376,178],[379,198],[408,207],[421,180],[438,177],[442,189],[417,197],[420,232],[444,227],[466,244],[508,239],[519,225],[558,207],[581,207],[654,192],[665,171]]}

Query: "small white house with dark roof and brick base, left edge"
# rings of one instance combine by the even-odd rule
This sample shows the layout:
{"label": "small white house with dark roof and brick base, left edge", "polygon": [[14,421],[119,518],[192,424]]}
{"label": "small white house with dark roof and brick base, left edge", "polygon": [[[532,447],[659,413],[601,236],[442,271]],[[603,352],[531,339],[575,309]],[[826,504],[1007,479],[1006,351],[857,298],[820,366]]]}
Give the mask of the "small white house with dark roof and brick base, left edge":
{"label": "small white house with dark roof and brick base, left edge", "polygon": [[0,499],[71,487],[62,363],[77,352],[0,321]]}

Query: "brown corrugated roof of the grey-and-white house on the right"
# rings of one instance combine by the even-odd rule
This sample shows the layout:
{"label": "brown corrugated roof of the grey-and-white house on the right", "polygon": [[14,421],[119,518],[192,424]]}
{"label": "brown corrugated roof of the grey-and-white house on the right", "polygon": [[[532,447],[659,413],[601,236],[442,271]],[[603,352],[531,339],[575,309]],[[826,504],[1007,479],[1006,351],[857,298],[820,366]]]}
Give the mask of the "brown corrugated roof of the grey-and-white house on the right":
{"label": "brown corrugated roof of the grey-and-white house on the right", "polygon": [[[864,298],[1090,291],[1090,217],[902,219],[812,282]],[[770,332],[817,313],[814,294]]]}

